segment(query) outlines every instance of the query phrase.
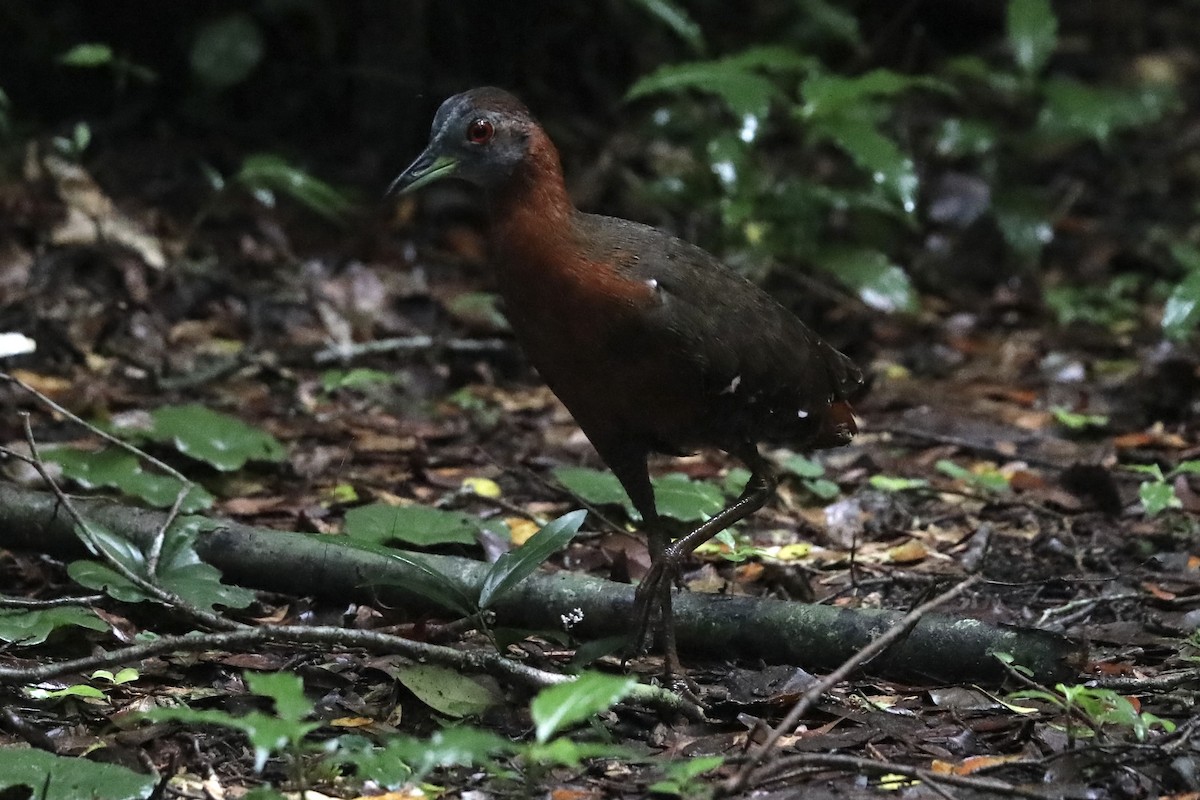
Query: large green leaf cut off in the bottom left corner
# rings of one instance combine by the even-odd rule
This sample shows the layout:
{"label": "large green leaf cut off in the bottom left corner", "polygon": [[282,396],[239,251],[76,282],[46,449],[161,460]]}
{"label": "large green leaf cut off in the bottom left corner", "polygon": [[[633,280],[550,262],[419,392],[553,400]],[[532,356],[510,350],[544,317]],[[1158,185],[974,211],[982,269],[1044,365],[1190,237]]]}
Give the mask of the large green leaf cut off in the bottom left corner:
{"label": "large green leaf cut off in the bottom left corner", "polygon": [[25,787],[37,800],[144,800],[158,782],[156,775],[142,775],[116,764],[86,758],[55,756],[29,747],[0,747],[0,789]]}

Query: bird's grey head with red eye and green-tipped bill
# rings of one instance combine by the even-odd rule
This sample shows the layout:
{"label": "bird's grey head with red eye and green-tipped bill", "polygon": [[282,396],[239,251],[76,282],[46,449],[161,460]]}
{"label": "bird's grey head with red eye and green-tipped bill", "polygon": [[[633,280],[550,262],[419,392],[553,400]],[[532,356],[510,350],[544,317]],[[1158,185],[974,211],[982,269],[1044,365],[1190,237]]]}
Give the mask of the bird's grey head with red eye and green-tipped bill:
{"label": "bird's grey head with red eye and green-tipped bill", "polygon": [[389,192],[410,192],[451,175],[498,188],[529,155],[538,121],[520,100],[493,86],[450,97],[438,109],[430,144]]}

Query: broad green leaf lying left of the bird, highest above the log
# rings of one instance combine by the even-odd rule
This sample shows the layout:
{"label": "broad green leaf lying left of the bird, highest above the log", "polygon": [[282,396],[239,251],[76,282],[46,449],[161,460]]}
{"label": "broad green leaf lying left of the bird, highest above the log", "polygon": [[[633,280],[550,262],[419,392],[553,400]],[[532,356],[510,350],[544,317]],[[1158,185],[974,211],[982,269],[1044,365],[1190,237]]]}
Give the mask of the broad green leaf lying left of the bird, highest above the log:
{"label": "broad green leaf lying left of the bird, highest above the log", "polygon": [[150,413],[156,441],[172,443],[185,456],[221,471],[241,469],[248,461],[278,463],[287,450],[271,434],[203,405],[163,405]]}

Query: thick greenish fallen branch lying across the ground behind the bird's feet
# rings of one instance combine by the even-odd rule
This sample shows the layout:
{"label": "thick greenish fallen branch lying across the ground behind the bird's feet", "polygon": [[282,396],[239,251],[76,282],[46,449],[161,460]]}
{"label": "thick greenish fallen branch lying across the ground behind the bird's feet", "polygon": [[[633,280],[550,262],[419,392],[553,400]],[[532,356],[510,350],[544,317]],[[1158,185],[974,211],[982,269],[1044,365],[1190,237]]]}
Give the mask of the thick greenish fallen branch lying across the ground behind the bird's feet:
{"label": "thick greenish fallen branch lying across the ground behind the bird's feet", "polygon": [[[163,513],[110,500],[78,500],[78,509],[139,546],[152,541]],[[200,535],[200,558],[226,581],[290,595],[383,602],[430,610],[413,587],[433,570],[468,596],[479,596],[487,565],[422,553],[389,558],[343,547],[330,535],[289,534],[214,521]],[[0,483],[0,547],[70,557],[80,554],[72,521],[53,495]],[[427,579],[427,578],[426,578]],[[634,588],[570,572],[541,572],[500,597],[490,610],[497,622],[526,628],[560,628],[562,616],[582,610],[571,627],[581,638],[629,633]],[[758,597],[682,593],[676,625],[682,650],[696,656],[739,657],[830,670],[883,634],[904,614],[874,609],[810,606]],[[1075,678],[1086,649],[1057,633],[989,625],[973,619],[929,615],[894,648],[870,663],[882,678],[920,682],[996,685],[1004,670],[992,657],[1008,652],[1043,682]]]}

